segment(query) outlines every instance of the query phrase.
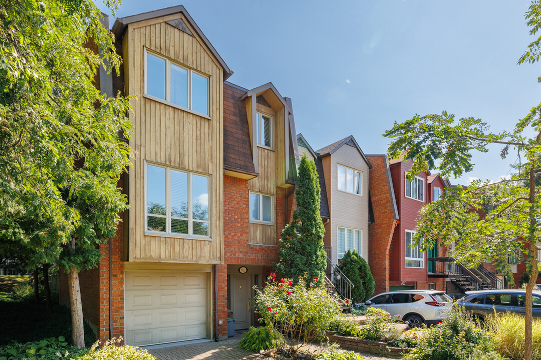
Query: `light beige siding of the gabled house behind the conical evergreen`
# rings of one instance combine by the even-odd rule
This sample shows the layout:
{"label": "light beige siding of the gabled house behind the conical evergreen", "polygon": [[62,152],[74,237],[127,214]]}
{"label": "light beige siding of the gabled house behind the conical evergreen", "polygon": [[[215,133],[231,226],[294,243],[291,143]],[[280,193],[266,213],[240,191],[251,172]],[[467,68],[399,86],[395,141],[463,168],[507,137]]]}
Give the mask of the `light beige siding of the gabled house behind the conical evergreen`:
{"label": "light beige siding of the gabled house behind the conical evergreen", "polygon": [[[331,246],[332,261],[338,263],[338,227],[362,231],[362,257],[368,262],[368,164],[356,147],[342,145],[331,155],[322,158],[331,219],[325,225],[325,246]],[[344,165],[362,173],[361,194],[338,190],[337,165]]]}

